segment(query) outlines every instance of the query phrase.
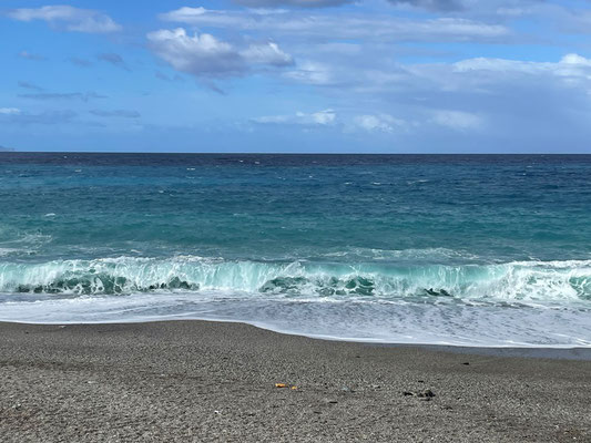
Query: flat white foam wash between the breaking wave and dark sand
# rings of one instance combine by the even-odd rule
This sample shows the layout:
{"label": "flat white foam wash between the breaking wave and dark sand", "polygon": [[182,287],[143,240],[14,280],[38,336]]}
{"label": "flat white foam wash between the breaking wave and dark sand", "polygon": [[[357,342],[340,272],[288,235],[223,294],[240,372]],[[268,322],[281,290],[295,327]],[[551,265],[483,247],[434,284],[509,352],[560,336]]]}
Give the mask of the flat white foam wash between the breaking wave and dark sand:
{"label": "flat white foam wash between the breaking wave and dark sand", "polygon": [[136,322],[173,319],[241,321],[285,333],[380,343],[478,347],[591,347],[589,309],[374,303],[349,300],[249,299],[247,293],[144,293],[45,297],[0,303],[1,321]]}

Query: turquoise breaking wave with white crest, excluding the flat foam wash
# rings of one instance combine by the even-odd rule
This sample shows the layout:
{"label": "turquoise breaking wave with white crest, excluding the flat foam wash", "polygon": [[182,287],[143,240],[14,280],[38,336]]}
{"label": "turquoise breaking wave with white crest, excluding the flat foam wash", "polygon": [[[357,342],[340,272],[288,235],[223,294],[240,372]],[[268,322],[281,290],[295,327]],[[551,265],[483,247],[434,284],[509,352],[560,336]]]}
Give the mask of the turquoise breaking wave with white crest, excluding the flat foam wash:
{"label": "turquoise breaking wave with white crest, excluding the flat foam wash", "polygon": [[493,265],[230,261],[183,256],[0,262],[4,293],[223,290],[282,297],[591,300],[591,260]]}

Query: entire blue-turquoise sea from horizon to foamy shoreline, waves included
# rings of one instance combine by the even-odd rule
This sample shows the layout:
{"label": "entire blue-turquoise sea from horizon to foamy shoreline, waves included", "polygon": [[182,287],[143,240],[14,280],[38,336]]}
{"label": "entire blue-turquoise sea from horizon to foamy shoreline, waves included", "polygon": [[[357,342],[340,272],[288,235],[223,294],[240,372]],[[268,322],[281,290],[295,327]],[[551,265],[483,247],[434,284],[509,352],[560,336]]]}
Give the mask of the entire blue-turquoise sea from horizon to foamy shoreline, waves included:
{"label": "entire blue-turquoise sea from horizon to foamy shoreline, waves included", "polygon": [[591,347],[591,156],[0,153],[0,321]]}

